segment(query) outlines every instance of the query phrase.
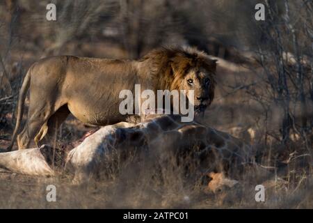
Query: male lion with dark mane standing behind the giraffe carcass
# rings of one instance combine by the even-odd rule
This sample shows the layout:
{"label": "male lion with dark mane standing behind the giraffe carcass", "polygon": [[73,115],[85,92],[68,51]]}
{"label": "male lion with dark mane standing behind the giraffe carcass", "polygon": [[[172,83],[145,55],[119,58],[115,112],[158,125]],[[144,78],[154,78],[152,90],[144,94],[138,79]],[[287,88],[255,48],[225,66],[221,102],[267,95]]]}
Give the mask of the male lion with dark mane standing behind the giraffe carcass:
{"label": "male lion with dark mane standing behind the giraffe carcass", "polygon": [[[161,48],[138,61],[51,56],[33,63],[19,92],[12,149],[30,89],[26,125],[17,136],[18,148],[31,139],[51,139],[72,113],[83,123],[108,125],[126,121],[119,112],[122,89],[194,90],[195,112],[204,112],[214,98],[216,60],[193,48]],[[134,91],[133,91],[134,92]]]}

